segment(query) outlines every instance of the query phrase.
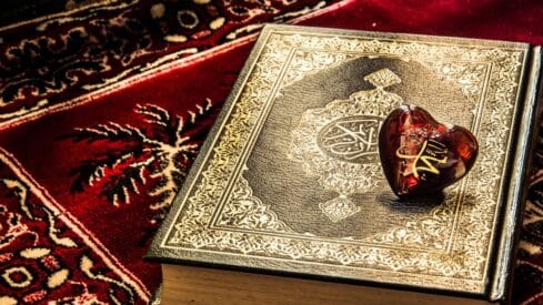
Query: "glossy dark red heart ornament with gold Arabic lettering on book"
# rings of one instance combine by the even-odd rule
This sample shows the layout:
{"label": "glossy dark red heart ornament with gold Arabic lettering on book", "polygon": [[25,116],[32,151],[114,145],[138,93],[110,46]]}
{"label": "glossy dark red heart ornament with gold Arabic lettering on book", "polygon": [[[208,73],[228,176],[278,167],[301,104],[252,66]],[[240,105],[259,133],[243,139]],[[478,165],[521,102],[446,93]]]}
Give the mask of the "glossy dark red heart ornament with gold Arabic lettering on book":
{"label": "glossy dark red heart ornament with gold Arabic lettering on book", "polygon": [[379,155],[398,196],[425,195],[440,192],[471,170],[477,141],[469,130],[441,124],[422,108],[402,105],[381,126]]}

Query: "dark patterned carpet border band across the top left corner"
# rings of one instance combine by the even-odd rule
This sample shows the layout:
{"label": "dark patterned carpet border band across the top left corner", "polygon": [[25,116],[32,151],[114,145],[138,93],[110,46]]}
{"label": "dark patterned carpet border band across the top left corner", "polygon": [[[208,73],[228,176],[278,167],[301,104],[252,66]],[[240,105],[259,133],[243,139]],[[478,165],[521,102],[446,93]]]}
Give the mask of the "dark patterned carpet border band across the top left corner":
{"label": "dark patterned carpet border band across the top left corner", "polygon": [[0,29],[0,125],[325,6],[110,0],[7,26]]}

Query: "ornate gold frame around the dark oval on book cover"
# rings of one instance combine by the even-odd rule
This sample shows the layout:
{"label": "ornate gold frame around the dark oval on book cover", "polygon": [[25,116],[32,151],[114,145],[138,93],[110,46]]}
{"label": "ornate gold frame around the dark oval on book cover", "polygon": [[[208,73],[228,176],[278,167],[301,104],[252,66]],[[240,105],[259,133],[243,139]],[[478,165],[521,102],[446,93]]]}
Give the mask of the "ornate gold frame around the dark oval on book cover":
{"label": "ornate gold frame around the dark oval on book cover", "polygon": [[[304,65],[296,62],[300,50],[330,57]],[[234,184],[243,184],[244,162],[280,89],[306,73],[368,55],[418,61],[457,82],[466,98],[479,99],[472,131],[480,140],[480,157],[462,183],[449,192],[459,194],[452,204],[446,199],[430,215],[365,241],[295,234],[258,199],[254,206],[262,209],[261,220],[267,225],[254,223],[259,220],[254,215],[253,223],[240,230],[213,225]],[[270,30],[161,247],[328,264],[379,275],[391,283],[482,292],[524,57],[524,49]],[[249,184],[245,186],[251,197]],[[475,196],[470,202],[477,204],[464,205],[466,195]],[[439,230],[451,218],[454,234]],[[450,246],[418,248],[429,236],[449,238]]]}

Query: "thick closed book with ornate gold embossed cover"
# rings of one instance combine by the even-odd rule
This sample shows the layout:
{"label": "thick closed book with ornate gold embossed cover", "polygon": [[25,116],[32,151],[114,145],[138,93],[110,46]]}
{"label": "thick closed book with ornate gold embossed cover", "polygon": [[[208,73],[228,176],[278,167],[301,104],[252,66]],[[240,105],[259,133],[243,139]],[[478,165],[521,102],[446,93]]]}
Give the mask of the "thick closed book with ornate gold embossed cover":
{"label": "thick closed book with ornate gold embossed cover", "polygon": [[[540,64],[525,43],[267,26],[149,248],[161,298],[507,302]],[[383,175],[402,104],[479,141],[440,196],[399,200]]]}

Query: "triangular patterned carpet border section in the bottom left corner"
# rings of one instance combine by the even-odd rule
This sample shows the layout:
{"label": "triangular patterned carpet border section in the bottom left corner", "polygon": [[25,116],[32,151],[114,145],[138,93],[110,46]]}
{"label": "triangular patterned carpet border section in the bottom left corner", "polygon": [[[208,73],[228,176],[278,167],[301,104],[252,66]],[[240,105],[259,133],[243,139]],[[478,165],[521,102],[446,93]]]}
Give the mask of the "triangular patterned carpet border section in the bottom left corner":
{"label": "triangular patterned carpet border section in the bottom left corner", "polygon": [[140,279],[8,152],[0,162],[0,304],[149,301]]}

